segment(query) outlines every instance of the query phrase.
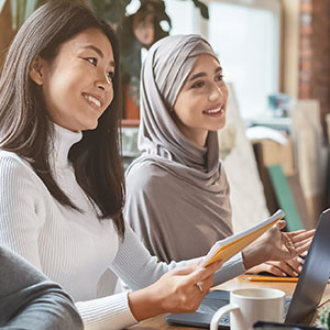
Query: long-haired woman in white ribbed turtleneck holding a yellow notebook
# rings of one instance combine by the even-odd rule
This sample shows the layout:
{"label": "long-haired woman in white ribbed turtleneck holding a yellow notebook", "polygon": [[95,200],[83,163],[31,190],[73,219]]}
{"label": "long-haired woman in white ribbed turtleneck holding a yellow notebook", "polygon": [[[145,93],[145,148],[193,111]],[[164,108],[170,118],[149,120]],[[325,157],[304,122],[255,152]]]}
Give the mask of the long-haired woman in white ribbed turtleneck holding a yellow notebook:
{"label": "long-haired woman in white ribbed turtleneck holding a yellow notebook", "polygon": [[[72,295],[86,329],[196,310],[212,283],[308,248],[308,235],[280,223],[215,278],[220,263],[157,263],[122,218],[118,88],[113,31],[62,1],[26,20],[0,79],[0,241]],[[133,292],[105,296],[108,267]]]}

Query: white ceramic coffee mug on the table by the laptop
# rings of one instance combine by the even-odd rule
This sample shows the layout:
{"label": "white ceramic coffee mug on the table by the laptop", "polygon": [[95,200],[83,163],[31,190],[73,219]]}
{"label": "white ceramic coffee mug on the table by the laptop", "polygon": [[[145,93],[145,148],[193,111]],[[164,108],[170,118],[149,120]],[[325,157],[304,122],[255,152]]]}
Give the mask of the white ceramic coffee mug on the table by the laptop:
{"label": "white ceramic coffee mug on the table by the laptop", "polygon": [[218,330],[221,317],[230,312],[230,328],[248,330],[256,321],[284,321],[285,293],[273,288],[245,288],[230,293],[230,304],[212,317],[210,330]]}

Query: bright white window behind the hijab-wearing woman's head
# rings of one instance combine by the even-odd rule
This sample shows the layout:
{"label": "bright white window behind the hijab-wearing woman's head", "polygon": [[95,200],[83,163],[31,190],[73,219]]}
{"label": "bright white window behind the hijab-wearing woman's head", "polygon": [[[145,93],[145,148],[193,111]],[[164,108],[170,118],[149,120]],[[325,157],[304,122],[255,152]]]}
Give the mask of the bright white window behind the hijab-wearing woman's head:
{"label": "bright white window behind the hijab-wearing woman's head", "polygon": [[206,1],[207,29],[191,1],[165,2],[172,34],[200,33],[209,40],[223,66],[224,80],[234,86],[241,116],[252,120],[265,114],[267,95],[279,89],[279,0]]}

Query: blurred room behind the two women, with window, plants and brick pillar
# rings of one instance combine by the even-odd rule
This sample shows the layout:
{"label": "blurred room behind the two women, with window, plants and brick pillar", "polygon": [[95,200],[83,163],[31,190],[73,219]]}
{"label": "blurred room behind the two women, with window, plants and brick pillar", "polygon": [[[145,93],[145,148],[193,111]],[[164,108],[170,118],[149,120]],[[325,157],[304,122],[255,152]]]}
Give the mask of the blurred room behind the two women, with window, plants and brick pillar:
{"label": "blurred room behind the two women, with window, plants and brick pillar", "polygon": [[[19,26],[44,2],[0,0],[0,63]],[[330,205],[330,0],[74,2],[120,36],[125,167],[140,154],[139,84],[147,50],[168,34],[198,33],[216,51],[230,89],[219,144],[234,230],[278,207],[289,230],[316,226]]]}

